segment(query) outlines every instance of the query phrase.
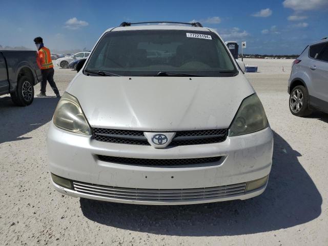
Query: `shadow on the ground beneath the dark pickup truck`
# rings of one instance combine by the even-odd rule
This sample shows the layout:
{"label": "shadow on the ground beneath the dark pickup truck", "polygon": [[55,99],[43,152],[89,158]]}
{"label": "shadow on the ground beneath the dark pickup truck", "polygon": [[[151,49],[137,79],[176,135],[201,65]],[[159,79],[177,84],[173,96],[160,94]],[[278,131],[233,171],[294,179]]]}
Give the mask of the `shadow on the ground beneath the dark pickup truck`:
{"label": "shadow on the ground beneath the dark pickup truck", "polygon": [[49,122],[59,98],[36,97],[27,107],[15,106],[10,97],[0,98],[0,144],[28,139],[21,137]]}

